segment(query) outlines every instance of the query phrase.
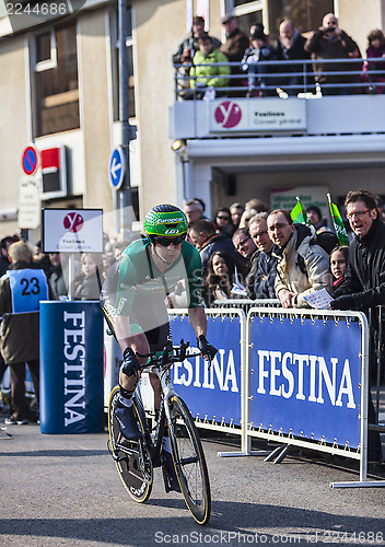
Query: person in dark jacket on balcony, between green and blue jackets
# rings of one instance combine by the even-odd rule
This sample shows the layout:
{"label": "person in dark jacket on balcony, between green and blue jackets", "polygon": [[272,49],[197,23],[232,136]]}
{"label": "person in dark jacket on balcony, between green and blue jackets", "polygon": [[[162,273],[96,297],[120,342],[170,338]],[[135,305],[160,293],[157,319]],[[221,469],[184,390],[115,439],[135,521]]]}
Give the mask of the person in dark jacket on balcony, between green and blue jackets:
{"label": "person in dark jacket on balcony, between green and blue jackets", "polygon": [[[222,54],[228,57],[230,62],[241,62],[246,49],[249,46],[248,36],[243,31],[241,31],[234,15],[224,15],[224,18],[222,18],[222,25],[226,33],[226,42],[221,45],[220,49]],[[233,75],[241,74],[241,65],[238,67],[235,65],[232,66],[231,73]],[[242,78],[232,78],[230,80],[231,88],[238,88],[242,86]],[[233,91],[229,94],[233,96],[241,96],[242,91]]]}

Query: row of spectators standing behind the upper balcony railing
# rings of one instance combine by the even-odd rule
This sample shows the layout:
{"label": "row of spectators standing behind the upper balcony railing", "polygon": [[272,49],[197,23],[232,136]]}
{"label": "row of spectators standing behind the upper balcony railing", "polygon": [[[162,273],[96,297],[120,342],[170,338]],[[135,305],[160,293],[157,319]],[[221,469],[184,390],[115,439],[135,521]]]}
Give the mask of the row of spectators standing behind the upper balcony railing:
{"label": "row of spectators standing behind the upper balcony railing", "polygon": [[385,93],[385,37],[380,28],[369,33],[362,60],[357,42],[334,13],[306,37],[292,21],[282,21],[275,45],[261,23],[252,24],[248,35],[232,14],[221,23],[223,44],[205,30],[203,18],[195,16],[190,35],[173,55],[180,98],[296,96],[317,88],[323,95]]}

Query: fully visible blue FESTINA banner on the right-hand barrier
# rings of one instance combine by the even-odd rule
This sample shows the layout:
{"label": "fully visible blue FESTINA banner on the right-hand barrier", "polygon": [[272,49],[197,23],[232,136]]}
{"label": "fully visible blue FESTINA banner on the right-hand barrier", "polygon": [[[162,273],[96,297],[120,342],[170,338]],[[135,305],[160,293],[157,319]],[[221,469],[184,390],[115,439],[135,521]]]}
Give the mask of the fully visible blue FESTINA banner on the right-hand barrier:
{"label": "fully visible blue FESTINA banner on the right-hand barrier", "polygon": [[357,449],[361,334],[359,322],[312,317],[253,321],[253,426]]}

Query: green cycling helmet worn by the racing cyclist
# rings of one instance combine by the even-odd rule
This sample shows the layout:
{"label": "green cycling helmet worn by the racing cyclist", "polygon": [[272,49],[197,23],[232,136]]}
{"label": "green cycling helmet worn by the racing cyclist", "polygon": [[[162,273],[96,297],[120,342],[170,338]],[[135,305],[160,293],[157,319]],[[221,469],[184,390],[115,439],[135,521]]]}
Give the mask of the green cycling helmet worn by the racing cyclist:
{"label": "green cycling helmet worn by the racing cyclist", "polygon": [[144,231],[149,238],[180,237],[187,234],[187,219],[180,209],[165,203],[153,207],[144,219]]}

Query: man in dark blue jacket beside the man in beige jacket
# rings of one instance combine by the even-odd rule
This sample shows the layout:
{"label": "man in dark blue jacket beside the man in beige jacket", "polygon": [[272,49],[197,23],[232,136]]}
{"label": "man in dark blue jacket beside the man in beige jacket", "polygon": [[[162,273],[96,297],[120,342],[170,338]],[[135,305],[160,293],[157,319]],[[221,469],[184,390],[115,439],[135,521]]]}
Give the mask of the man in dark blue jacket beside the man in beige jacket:
{"label": "man in dark blue jacket beside the man in beige jacket", "polygon": [[249,299],[275,299],[277,257],[272,254],[275,245],[267,229],[267,212],[259,212],[249,221],[249,232],[257,253],[252,257],[252,266],[246,278]]}

